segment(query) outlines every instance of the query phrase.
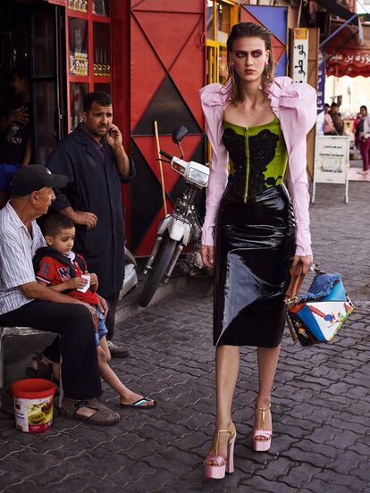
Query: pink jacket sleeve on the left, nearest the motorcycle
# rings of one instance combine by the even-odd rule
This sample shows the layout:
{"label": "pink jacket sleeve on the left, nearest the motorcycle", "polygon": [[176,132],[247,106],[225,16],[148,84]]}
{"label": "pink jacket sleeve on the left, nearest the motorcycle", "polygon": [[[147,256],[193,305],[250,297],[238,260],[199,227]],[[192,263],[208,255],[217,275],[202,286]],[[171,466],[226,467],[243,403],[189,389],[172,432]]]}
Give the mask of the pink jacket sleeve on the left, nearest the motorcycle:
{"label": "pink jacket sleeve on the left, nearest the motorcycle", "polygon": [[202,245],[214,245],[214,226],[218,207],[228,179],[227,151],[223,146],[224,95],[221,84],[200,89],[200,102],[206,118],[206,135],[212,147],[211,171],[206,189],[206,217],[202,228]]}

